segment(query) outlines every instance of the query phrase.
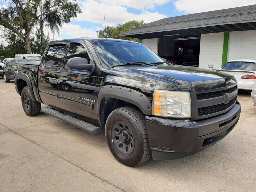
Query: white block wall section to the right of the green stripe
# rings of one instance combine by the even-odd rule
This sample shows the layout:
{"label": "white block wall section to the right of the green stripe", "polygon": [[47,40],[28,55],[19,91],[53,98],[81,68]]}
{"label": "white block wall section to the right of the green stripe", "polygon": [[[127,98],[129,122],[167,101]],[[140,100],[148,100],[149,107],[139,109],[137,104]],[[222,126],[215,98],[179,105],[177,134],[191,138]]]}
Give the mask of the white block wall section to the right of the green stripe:
{"label": "white block wall section to the right of the green stripe", "polygon": [[229,32],[228,60],[256,59],[256,30]]}

